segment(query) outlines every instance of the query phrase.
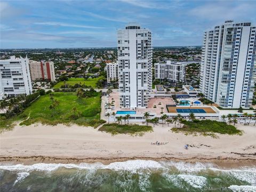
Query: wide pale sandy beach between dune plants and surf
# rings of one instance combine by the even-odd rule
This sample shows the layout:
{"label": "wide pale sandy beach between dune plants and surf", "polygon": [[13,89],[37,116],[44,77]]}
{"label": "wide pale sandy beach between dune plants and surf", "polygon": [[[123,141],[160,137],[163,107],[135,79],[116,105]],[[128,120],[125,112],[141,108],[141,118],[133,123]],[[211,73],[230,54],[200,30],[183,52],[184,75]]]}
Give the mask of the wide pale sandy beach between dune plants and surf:
{"label": "wide pale sandy beach between dune plants and surf", "polygon": [[[172,159],[186,161],[256,162],[256,127],[236,125],[240,135],[211,137],[172,133],[166,125],[142,137],[100,132],[77,125],[49,126],[34,124],[15,126],[1,134],[3,161],[37,162],[112,162],[126,159]],[[155,146],[151,142],[168,142]],[[185,144],[190,146],[184,149]]]}

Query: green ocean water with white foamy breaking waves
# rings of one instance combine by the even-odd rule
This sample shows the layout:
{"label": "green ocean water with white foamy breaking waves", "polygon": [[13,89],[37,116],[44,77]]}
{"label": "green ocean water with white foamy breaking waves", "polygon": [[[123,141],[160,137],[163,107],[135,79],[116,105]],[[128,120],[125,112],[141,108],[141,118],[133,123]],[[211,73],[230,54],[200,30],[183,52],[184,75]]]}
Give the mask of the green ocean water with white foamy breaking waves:
{"label": "green ocean water with white foamy breaking waves", "polygon": [[0,191],[256,191],[256,166],[133,160],[0,164]]}

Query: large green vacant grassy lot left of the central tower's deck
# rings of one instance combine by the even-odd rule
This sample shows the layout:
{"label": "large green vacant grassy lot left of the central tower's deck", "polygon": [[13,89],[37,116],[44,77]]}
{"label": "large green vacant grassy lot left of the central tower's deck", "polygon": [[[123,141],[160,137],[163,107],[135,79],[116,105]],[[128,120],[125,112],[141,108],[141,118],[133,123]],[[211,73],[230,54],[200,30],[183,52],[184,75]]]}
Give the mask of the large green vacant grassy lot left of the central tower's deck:
{"label": "large green vacant grassy lot left of the central tower's deck", "polygon": [[[100,93],[97,97],[82,98],[77,100],[76,93],[55,92],[54,99],[58,100],[59,107],[55,110],[50,110],[51,100],[49,95],[41,96],[37,101],[32,103],[23,113],[10,119],[1,117],[1,129],[11,129],[13,122],[22,121],[21,125],[30,125],[36,122],[43,124],[56,125],[58,123],[76,123],[78,125],[88,125],[97,127],[100,125]],[[72,108],[77,108],[81,116],[77,119],[71,119],[70,115]]]}

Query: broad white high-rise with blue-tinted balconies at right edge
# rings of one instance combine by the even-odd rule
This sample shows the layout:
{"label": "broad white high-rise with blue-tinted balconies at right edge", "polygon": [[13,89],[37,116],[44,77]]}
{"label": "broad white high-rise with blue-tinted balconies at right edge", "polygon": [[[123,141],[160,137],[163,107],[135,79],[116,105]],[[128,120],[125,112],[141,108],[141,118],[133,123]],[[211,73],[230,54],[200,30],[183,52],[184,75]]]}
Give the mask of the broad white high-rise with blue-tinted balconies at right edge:
{"label": "broad white high-rise with blue-tinted balconies at right edge", "polygon": [[249,108],[255,81],[255,31],[226,21],[204,34],[200,89],[222,108]]}

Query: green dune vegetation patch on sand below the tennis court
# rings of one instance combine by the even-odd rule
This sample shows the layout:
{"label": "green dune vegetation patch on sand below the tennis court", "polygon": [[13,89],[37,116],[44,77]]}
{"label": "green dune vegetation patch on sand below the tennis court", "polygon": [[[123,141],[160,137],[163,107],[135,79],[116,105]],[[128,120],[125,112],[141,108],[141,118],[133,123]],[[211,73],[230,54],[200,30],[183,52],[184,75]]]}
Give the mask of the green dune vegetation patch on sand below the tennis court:
{"label": "green dune vegetation patch on sand below the tennis court", "polygon": [[211,136],[213,138],[218,138],[215,133],[220,134],[242,134],[241,130],[237,130],[235,126],[228,125],[225,122],[211,121],[211,120],[202,120],[198,122],[182,122],[182,128],[172,128],[173,132],[183,132],[185,134],[193,134],[193,135],[204,135]]}

